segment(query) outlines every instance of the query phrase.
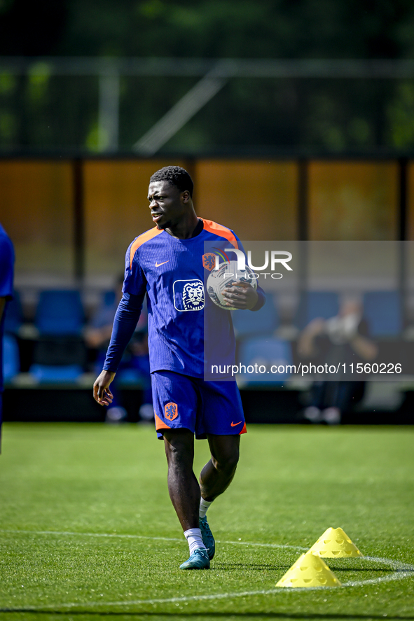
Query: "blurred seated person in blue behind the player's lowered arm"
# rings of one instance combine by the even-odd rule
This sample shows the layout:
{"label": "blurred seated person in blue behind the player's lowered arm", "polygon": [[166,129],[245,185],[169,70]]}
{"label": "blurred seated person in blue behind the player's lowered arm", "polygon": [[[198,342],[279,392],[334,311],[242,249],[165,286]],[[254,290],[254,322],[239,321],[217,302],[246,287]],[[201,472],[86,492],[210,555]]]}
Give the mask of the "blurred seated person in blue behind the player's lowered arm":
{"label": "blurred seated person in blue behind the player's lowered arm", "polygon": [[[120,299],[122,298],[123,274],[116,280],[116,286],[109,295],[102,296],[102,301],[92,315],[85,329],[85,342],[89,349],[96,351],[95,371],[99,373],[104,365],[106,350],[111,340],[113,319]],[[111,295],[113,293],[113,296]],[[135,328],[130,344],[123,355],[119,373],[116,376],[113,387],[113,402],[106,409],[106,422],[118,423],[127,419],[127,410],[122,405],[119,394],[119,384],[125,378],[125,372],[130,379],[142,382],[142,405],[139,407],[139,419],[144,422],[153,421],[153,398],[151,391],[151,376],[149,372],[148,330],[147,314],[142,312]]]}

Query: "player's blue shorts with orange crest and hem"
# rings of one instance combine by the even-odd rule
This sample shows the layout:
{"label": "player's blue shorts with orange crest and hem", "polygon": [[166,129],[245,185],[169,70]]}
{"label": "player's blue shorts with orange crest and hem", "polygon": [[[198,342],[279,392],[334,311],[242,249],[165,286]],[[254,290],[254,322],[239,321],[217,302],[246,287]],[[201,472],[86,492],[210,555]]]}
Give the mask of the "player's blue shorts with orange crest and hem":
{"label": "player's blue shorts with orange crest and hem", "polygon": [[151,374],[153,406],[159,439],[163,429],[186,428],[198,439],[246,433],[242,400],[236,382],[206,382],[172,371]]}

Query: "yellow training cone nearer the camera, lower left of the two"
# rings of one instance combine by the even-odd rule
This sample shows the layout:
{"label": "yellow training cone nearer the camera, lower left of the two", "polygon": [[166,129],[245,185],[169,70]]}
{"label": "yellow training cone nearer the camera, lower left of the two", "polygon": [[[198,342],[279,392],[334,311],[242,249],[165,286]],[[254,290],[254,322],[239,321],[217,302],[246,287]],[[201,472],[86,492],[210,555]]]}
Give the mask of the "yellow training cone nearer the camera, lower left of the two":
{"label": "yellow training cone nearer the camera, lower left of the two", "polygon": [[306,552],[276,583],[277,587],[340,587],[340,581],[325,561]]}

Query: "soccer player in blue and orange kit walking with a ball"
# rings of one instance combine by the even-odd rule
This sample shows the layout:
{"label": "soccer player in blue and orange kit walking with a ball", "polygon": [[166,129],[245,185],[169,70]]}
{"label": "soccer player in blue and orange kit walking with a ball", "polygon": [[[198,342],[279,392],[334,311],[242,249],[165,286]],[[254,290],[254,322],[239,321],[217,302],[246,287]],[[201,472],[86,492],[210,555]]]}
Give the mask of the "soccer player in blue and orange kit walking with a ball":
{"label": "soccer player in blue and orange kit walking with a ball", "polygon": [[[123,298],[94,397],[101,405],[111,403],[109,386],[146,294],[156,431],[164,440],[170,498],[190,548],[181,569],[208,569],[215,544],[205,515],[233,480],[246,426],[235,381],[204,379],[205,315],[223,346],[221,362],[232,364],[235,357],[230,312],[205,295],[205,277],[214,267],[205,243],[238,249],[240,241],[225,226],[198,218],[192,195],[193,181],[181,167],[167,166],[151,176],[148,200],[156,226],[127,249]],[[237,309],[258,310],[265,302],[261,288],[255,291],[249,283],[233,284],[223,295]],[[207,438],[211,452],[200,483],[193,472],[194,435]]]}

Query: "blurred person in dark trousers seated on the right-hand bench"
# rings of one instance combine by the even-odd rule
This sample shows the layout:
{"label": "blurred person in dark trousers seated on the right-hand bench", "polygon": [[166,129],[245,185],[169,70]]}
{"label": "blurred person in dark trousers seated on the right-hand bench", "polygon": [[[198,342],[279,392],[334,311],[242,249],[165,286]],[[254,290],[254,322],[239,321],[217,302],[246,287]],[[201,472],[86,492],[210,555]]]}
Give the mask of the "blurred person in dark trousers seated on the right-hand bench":
{"label": "blurred person in dark trousers seated on the right-hand bench", "polygon": [[[372,362],[378,346],[368,336],[368,323],[358,300],[345,300],[338,315],[331,319],[312,319],[298,340],[298,355],[315,364],[334,365],[339,372],[333,381],[313,382],[309,404],[303,412],[312,423],[340,424],[343,412],[364,395],[365,382],[349,381],[350,363]],[[343,372],[345,363],[346,372]],[[355,375],[353,376],[355,377]]]}

